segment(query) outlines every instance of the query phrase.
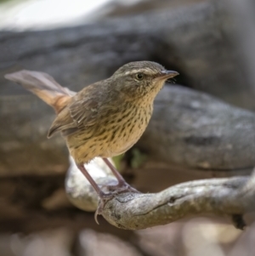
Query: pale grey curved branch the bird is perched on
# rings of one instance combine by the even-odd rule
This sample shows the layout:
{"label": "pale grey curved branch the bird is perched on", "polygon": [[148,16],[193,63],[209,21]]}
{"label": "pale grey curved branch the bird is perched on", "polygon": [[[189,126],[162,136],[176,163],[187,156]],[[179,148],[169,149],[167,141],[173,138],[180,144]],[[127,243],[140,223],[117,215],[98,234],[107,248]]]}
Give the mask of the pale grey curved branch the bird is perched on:
{"label": "pale grey curved branch the bird is perched on", "polygon": [[[115,178],[105,171],[100,159],[88,164],[96,182],[105,187]],[[139,230],[166,225],[190,214],[213,213],[241,216],[254,212],[255,175],[228,179],[201,179],[173,185],[158,193],[122,193],[105,204],[102,215],[118,228]],[[75,164],[66,178],[65,190],[78,208],[94,211],[99,198]],[[237,221],[242,221],[241,217]],[[240,224],[235,224],[239,226]],[[241,228],[243,225],[240,226]]]}

